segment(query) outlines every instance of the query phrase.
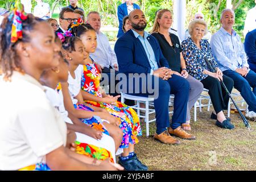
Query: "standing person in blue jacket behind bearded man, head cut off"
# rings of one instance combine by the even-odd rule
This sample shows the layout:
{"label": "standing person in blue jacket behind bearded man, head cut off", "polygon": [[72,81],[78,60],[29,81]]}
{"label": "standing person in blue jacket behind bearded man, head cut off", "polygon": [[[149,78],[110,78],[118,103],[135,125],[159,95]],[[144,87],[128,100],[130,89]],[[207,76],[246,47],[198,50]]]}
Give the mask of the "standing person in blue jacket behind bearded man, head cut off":
{"label": "standing person in blue jacket behind bearded man, head cut off", "polygon": [[130,14],[131,11],[135,9],[140,9],[139,5],[132,3],[132,0],[126,0],[125,3],[122,3],[117,8],[117,16],[118,16],[118,22],[119,22],[119,30],[117,34],[117,38],[121,37],[123,34],[125,34],[122,30],[123,26],[123,18]]}

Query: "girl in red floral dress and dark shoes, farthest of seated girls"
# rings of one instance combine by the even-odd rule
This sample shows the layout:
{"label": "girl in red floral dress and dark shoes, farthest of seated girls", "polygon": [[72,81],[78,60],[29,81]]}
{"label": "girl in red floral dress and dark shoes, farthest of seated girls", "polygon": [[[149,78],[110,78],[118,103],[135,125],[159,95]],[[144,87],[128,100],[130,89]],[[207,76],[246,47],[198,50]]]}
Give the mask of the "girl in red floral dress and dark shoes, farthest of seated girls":
{"label": "girl in red floral dress and dark shoes, farthest of seated girls", "polygon": [[[73,33],[81,38],[88,54],[96,50],[96,31],[89,24],[74,27]],[[94,60],[88,57],[83,64],[83,72],[80,74],[84,101],[92,106],[106,109],[121,119],[119,127],[123,131],[123,140],[120,147],[123,148],[123,153],[119,158],[119,164],[129,171],[147,170],[134,153],[134,144],[139,142],[137,136],[142,134],[137,113],[131,107],[118,102],[117,97],[109,96],[100,89],[101,74]]]}

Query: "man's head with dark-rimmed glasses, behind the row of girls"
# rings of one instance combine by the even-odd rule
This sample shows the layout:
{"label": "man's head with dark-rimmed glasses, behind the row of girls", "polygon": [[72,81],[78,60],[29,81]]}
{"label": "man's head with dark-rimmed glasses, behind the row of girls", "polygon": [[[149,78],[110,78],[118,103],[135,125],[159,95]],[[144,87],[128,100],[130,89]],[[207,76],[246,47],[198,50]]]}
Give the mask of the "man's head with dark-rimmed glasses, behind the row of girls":
{"label": "man's head with dark-rimmed glasses, behind the row of girls", "polygon": [[71,23],[76,21],[77,21],[77,18],[74,10],[70,9],[69,7],[64,7],[60,11],[60,15],[59,15],[60,27],[56,32],[64,33],[65,31],[68,30],[68,26]]}

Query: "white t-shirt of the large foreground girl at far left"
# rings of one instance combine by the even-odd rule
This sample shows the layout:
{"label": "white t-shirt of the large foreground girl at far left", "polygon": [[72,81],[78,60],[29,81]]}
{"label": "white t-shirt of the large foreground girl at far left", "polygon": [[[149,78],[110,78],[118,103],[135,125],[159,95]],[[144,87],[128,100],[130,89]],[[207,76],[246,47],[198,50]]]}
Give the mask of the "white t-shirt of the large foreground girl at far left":
{"label": "white t-shirt of the large foreground girl at far left", "polygon": [[46,154],[65,146],[67,126],[35,78],[14,72],[0,88],[0,170],[45,162]]}

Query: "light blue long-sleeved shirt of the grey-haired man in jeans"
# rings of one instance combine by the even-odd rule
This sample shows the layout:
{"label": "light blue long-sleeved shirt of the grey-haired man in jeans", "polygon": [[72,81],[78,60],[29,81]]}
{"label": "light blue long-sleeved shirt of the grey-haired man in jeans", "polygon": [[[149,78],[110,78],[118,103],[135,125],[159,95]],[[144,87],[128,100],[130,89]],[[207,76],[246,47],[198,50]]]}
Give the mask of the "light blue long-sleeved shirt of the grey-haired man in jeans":
{"label": "light blue long-sleeved shirt of the grey-haired man in jeans", "polygon": [[210,47],[222,72],[229,69],[236,71],[237,68],[242,67],[249,68],[245,49],[236,31],[232,30],[232,35],[230,35],[221,27],[212,36]]}

